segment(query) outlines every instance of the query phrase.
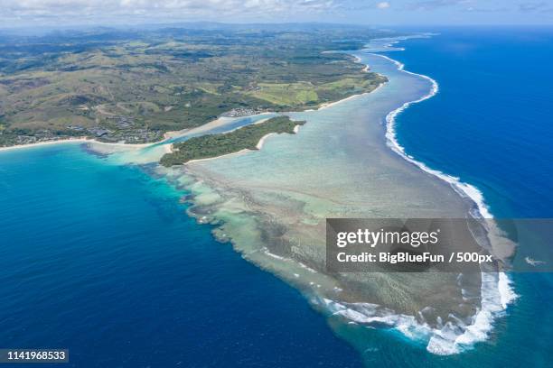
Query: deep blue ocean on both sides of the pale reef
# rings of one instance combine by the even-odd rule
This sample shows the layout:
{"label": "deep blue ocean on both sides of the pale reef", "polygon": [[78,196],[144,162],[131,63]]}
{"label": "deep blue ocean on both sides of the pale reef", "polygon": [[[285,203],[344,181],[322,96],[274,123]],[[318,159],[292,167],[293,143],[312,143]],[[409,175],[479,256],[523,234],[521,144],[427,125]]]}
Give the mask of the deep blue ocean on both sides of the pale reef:
{"label": "deep blue ocean on both sides of the pale reef", "polygon": [[[429,31],[388,53],[440,85],[398,116],[399,143],[494,216],[553,216],[553,29]],[[298,291],[188,217],[185,194],[78,144],[0,152],[0,347],[69,348],[77,367],[362,366]],[[487,342],[442,357],[375,331],[390,354],[371,366],[553,366],[552,279],[513,279]]]}

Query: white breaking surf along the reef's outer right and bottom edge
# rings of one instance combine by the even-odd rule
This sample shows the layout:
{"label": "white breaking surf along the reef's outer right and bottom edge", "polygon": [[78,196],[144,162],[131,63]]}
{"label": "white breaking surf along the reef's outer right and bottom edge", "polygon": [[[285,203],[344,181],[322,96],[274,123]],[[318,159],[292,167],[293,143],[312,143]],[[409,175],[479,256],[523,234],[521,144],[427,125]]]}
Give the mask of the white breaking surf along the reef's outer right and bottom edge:
{"label": "white breaking surf along the reef's outer right and bottom edge", "polygon": [[[391,42],[390,45],[394,43],[395,42]],[[417,165],[421,170],[425,170],[429,174],[445,180],[445,182],[449,183],[461,196],[472,199],[475,204],[473,216],[493,218],[489,207],[485,204],[483,193],[479,189],[471,184],[462,182],[459,178],[452,175],[429,168],[425,163],[417,161],[412,156],[409,156],[405,152],[404,147],[398,143],[395,130],[396,117],[407,109],[408,106],[436,96],[439,91],[436,80],[422,74],[405,70],[405,65],[398,60],[393,60],[385,55],[376,53],[371,54],[393,62],[398,66],[398,70],[420,78],[425,78],[432,85],[428,94],[417,100],[403,104],[386,116],[386,138],[387,144],[391,150],[397,152],[403,159]],[[330,299],[323,299],[323,304],[326,308],[333,311],[335,315],[340,315],[362,324],[373,324],[375,322],[386,324],[412,339],[427,341],[426,350],[428,352],[448,355],[458,354],[466,349],[472,348],[475,343],[486,340],[489,333],[492,331],[493,321],[497,317],[503,316],[506,308],[508,308],[517,297],[517,294],[512,288],[512,282],[507,274],[504,272],[484,272],[482,274],[481,308],[473,316],[472,322],[469,325],[465,325],[460,320],[455,324],[449,321],[441,328],[429,327],[426,323],[418,322],[415,317],[394,314],[388,309],[382,309],[369,303],[340,303]]]}

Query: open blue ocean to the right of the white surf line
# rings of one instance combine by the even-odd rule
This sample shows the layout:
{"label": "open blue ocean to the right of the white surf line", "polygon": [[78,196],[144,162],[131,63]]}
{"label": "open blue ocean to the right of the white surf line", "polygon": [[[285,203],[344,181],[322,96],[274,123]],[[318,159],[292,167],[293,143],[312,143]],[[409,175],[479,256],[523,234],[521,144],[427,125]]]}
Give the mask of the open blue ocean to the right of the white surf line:
{"label": "open blue ocean to the right of the white surf line", "polygon": [[[397,118],[398,142],[483,192],[498,218],[553,217],[553,27],[448,28],[388,52],[439,93]],[[548,244],[551,246],[551,244]],[[474,366],[553,366],[553,275],[511,275],[519,299]],[[477,353],[478,349],[476,349]]]}

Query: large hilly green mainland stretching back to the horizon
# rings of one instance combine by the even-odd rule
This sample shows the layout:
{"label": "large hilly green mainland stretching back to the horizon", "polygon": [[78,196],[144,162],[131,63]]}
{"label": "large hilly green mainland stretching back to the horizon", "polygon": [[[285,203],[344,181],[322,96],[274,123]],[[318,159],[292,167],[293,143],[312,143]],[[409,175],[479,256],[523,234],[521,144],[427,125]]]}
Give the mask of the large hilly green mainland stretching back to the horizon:
{"label": "large hilly green mainland stretching back to the horizon", "polygon": [[0,33],[0,145],[83,135],[153,142],[232,109],[319,106],[384,80],[323,51],[385,35],[294,24]]}

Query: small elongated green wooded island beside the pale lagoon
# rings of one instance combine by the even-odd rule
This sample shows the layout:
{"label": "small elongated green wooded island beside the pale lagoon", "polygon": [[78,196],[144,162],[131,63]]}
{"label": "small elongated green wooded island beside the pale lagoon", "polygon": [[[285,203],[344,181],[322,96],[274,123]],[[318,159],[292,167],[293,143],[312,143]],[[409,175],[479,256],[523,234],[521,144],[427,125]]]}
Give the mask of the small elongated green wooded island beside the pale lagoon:
{"label": "small elongated green wooded island beside the pale lagoon", "polygon": [[244,149],[256,150],[261,138],[268,133],[294,133],[295,126],[303,124],[305,121],[292,121],[288,116],[277,116],[263,123],[241,127],[230,133],[193,137],[183,143],[175,143],[173,152],[166,153],[160,162],[164,166],[173,166]]}

